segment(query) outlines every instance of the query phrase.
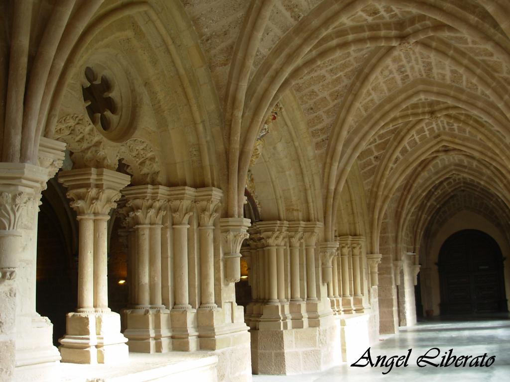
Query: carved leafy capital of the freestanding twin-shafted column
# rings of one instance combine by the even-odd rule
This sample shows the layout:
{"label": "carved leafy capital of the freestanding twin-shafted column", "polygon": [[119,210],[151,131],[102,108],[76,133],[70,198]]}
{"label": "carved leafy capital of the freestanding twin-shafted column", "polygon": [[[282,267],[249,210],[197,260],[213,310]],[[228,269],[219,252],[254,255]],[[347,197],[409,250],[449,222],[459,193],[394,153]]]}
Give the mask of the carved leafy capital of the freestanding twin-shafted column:
{"label": "carved leafy capital of the freestanding twin-shafted column", "polygon": [[70,206],[78,213],[108,214],[120,199],[119,190],[130,181],[129,175],[107,169],[77,169],[62,171],[59,182],[68,188]]}

